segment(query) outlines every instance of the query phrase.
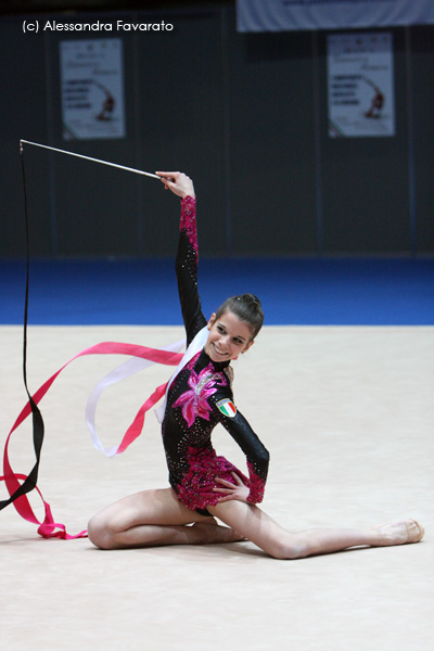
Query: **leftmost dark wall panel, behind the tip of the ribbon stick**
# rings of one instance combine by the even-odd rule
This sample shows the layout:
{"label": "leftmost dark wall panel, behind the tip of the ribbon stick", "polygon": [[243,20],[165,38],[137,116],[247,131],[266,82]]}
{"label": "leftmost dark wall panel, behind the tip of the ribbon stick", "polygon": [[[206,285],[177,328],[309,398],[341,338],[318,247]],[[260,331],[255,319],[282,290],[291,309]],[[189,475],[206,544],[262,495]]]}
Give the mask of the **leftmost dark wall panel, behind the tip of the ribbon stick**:
{"label": "leftmost dark wall panel, behind the tip of the ribbon stick", "polygon": [[[0,22],[0,255],[24,253],[24,201],[18,141],[46,141],[46,39],[24,34],[22,21]],[[50,250],[50,193],[48,170],[28,158],[28,201],[35,254]]]}

